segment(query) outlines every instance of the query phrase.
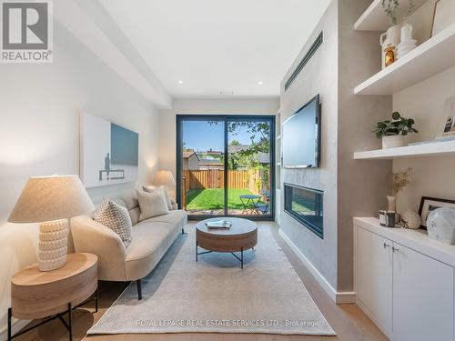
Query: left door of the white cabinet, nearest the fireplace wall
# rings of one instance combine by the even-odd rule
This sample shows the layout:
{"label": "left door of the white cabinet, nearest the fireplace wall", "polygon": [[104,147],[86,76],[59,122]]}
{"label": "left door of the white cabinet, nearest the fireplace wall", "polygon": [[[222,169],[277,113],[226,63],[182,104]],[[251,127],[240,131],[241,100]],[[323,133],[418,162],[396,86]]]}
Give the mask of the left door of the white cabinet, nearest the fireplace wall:
{"label": "left door of the white cabinet, nearest the fireplace wall", "polygon": [[356,297],[365,313],[389,334],[392,327],[392,242],[357,228]]}

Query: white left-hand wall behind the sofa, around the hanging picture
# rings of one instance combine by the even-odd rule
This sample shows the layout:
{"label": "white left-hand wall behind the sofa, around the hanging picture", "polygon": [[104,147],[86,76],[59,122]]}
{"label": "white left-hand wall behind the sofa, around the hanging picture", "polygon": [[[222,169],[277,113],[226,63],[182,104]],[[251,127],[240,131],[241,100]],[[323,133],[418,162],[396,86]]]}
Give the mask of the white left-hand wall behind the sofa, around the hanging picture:
{"label": "white left-hand wall behind the sofa, around the hanging picture", "polygon": [[[79,173],[79,115],[86,111],[139,133],[139,181],[157,168],[157,109],[56,23],[54,63],[0,65],[0,333],[10,279],[35,263],[37,226],[7,224],[29,176]],[[90,189],[120,196],[136,184]]]}

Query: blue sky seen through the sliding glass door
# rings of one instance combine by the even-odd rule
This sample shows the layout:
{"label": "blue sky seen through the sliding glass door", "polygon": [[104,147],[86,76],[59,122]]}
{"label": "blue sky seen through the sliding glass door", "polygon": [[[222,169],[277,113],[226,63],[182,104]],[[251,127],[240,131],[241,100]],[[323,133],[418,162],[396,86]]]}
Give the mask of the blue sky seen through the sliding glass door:
{"label": "blue sky seen through the sliding glass door", "polygon": [[[228,143],[238,140],[241,145],[249,145],[251,142],[250,134],[246,127],[240,127],[238,134],[228,134]],[[224,123],[209,125],[207,121],[184,121],[183,122],[183,142],[187,148],[196,151],[224,150]]]}

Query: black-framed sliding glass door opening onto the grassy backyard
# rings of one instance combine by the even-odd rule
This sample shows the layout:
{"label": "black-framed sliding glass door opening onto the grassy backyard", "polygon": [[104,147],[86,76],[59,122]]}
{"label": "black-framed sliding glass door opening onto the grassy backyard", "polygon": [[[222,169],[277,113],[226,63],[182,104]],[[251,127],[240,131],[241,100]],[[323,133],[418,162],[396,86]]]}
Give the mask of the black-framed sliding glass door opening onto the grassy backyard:
{"label": "black-framed sliding glass door opening onto the grassy backyard", "polygon": [[271,219],[275,117],[177,115],[177,201],[192,218]]}

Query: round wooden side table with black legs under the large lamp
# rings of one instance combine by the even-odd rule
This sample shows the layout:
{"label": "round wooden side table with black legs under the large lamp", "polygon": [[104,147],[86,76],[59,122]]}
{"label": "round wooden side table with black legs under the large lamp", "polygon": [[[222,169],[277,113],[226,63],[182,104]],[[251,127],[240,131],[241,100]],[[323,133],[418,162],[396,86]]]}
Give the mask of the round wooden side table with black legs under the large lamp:
{"label": "round wooden side table with black legs under the large lamp", "polygon": [[[69,254],[66,265],[56,270],[40,271],[38,265],[26,266],[11,279],[11,307],[8,309],[8,341],[46,322],[60,319],[73,339],[72,310],[95,294],[97,304],[97,256]],[[63,316],[68,313],[67,322]],[[35,326],[11,335],[11,317],[33,320],[45,318]]]}

